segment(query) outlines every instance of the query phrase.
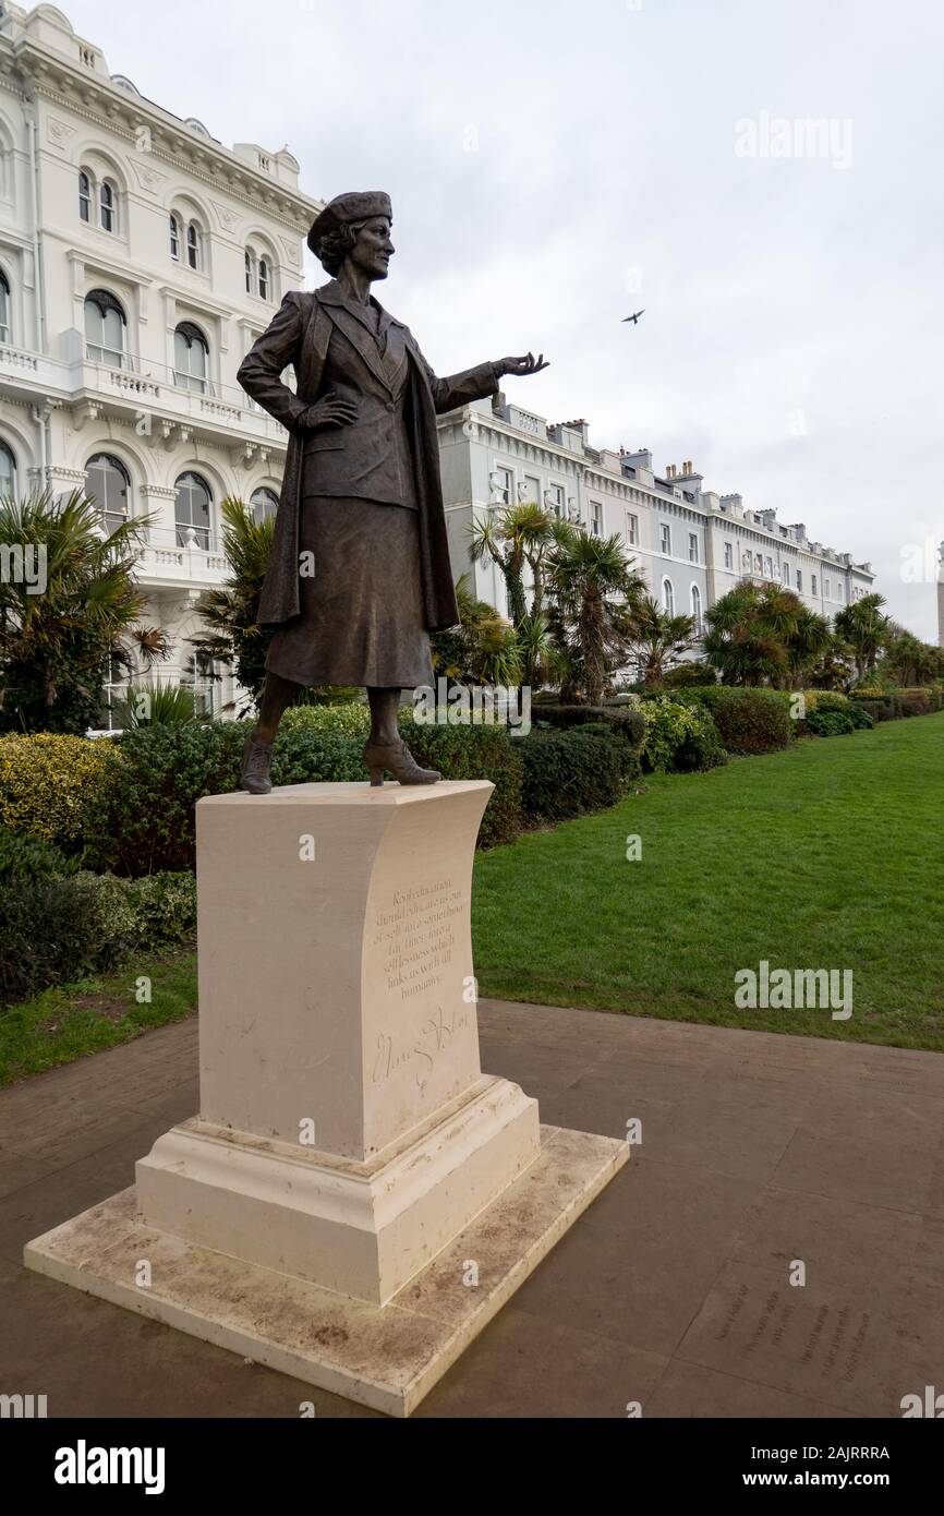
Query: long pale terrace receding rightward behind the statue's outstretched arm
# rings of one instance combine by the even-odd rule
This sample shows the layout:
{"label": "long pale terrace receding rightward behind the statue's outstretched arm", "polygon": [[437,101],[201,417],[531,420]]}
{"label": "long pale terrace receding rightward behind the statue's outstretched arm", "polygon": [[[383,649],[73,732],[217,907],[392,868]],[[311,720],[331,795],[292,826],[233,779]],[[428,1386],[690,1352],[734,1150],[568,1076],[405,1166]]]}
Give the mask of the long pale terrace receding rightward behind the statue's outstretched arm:
{"label": "long pale terrace receding rightward behind the statue's outstretched arm", "polygon": [[691,462],[658,475],[649,450],[594,449],[585,420],[549,424],[503,396],[439,418],[439,462],[456,576],[503,615],[502,573],[473,562],[470,532],[495,506],[523,502],[620,537],[650,594],[699,628],[741,579],[782,584],[829,617],[873,587],[870,564],[812,541],[803,523],[747,509],[739,494],[705,490]]}

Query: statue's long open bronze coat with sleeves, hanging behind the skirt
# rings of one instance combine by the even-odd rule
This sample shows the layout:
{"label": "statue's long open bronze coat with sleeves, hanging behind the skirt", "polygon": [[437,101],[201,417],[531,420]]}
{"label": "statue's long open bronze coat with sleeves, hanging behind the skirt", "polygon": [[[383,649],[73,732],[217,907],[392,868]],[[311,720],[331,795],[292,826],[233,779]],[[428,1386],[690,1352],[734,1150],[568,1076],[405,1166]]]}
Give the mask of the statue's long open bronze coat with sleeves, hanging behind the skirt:
{"label": "statue's long open bronze coat with sleeves, hanging behind the skirt", "polygon": [[[285,296],[268,329],[242,359],[239,384],[259,405],[289,431],[282,496],[276,515],[273,552],[259,600],[259,625],[280,626],[300,614],[299,596],[299,511],[303,494],[303,458],[295,421],[324,393],[323,371],[327,344],[339,327],[332,308],[344,305],[344,293],[336,280],[314,293],[295,290]],[[453,588],[445,511],[439,481],[439,446],[436,414],[468,405],[499,388],[491,364],[479,364],[449,379],[439,379],[420,352],[409,327],[395,321],[380,308],[380,321],[403,329],[411,359],[411,447],[415,465],[417,503],[420,508],[420,572],[426,629],[444,631],[459,620]],[[350,337],[350,329],[345,332]],[[364,343],[371,343],[364,334]],[[361,349],[370,356],[370,349]],[[297,390],[282,384],[282,373],[294,364]],[[341,435],[344,428],[341,429]]]}

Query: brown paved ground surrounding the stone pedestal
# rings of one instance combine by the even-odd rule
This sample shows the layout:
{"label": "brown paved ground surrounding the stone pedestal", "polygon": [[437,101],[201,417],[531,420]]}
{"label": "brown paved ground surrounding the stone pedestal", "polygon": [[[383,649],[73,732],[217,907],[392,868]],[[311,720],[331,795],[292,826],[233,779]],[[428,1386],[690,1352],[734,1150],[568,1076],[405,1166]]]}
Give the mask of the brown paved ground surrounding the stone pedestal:
{"label": "brown paved ground surrounding the stone pedestal", "polygon": [[[636,1117],[641,1142],[417,1416],[899,1417],[944,1383],[939,1054],[494,1001],[479,1020],[483,1067],[542,1122]],[[195,1101],[195,1020],[0,1093],[0,1392],[50,1416],[377,1414],[23,1269]]]}

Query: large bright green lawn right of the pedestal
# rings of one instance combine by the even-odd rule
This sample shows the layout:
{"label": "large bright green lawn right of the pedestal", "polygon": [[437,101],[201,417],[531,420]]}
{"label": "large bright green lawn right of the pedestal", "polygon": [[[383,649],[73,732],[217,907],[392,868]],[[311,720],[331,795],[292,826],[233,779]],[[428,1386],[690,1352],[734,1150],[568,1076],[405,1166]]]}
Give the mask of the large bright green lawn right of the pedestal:
{"label": "large bright green lawn right of the pedestal", "polygon": [[[642,785],[479,855],[480,994],[944,1048],[944,713]],[[761,960],[852,969],[852,1017],[738,1010]]]}

